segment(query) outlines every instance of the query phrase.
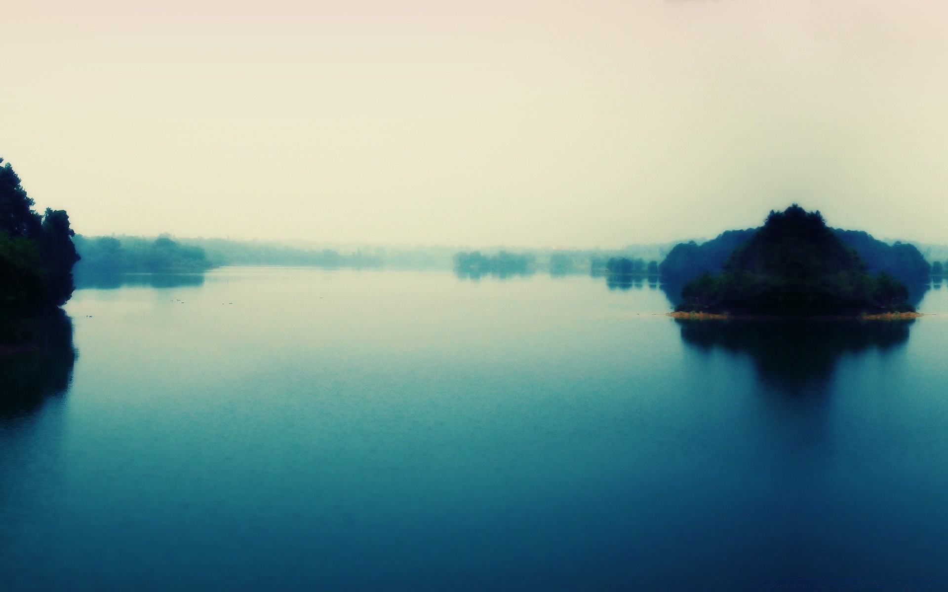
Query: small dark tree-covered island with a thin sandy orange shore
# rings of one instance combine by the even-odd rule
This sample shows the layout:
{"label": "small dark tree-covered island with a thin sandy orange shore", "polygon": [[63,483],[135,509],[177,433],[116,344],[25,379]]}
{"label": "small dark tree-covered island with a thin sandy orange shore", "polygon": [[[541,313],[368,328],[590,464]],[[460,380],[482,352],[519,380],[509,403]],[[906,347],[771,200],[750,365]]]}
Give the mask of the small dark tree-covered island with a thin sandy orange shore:
{"label": "small dark tree-covered island with a thin sandy orange shore", "polygon": [[688,281],[682,297],[673,313],[679,318],[919,315],[902,281],[869,273],[859,253],[818,211],[796,205],[771,211],[719,274]]}

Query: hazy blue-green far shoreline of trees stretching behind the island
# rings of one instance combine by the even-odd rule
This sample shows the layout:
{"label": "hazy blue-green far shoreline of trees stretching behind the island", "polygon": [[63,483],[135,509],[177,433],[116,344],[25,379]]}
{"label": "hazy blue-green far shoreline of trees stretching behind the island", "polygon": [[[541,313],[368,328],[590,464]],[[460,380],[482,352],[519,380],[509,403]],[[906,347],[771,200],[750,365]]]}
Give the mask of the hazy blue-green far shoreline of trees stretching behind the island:
{"label": "hazy blue-green far shoreline of trees stretching behind the island", "polygon": [[[759,228],[729,230],[705,242],[629,244],[620,249],[484,248],[463,250],[451,246],[372,245],[317,242],[264,242],[231,239],[178,238],[170,235],[136,237],[77,236],[82,260],[75,273],[202,273],[231,265],[319,267],[325,269],[453,270],[459,278],[551,277],[605,278],[611,289],[629,290],[647,280],[676,290],[704,272],[720,273],[731,251]],[[865,232],[834,229],[851,242],[873,272],[885,271],[910,286],[934,279],[946,268],[933,259],[929,265],[909,243],[888,244]],[[117,244],[118,243],[118,244]],[[155,244],[158,243],[158,244]],[[203,251],[203,254],[202,254]],[[948,246],[927,245],[925,252],[948,255]],[[930,273],[929,271],[930,270]],[[672,294],[674,293],[674,294]]]}

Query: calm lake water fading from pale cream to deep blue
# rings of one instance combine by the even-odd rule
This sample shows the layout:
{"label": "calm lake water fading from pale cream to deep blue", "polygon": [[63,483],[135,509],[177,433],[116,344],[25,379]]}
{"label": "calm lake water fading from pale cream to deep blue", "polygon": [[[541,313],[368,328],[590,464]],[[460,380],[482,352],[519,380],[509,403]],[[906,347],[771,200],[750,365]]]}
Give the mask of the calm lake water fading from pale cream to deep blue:
{"label": "calm lake water fading from pale cream to deep blue", "polygon": [[0,588],[948,578],[948,288],[695,325],[588,277],[82,286],[71,343],[0,373]]}

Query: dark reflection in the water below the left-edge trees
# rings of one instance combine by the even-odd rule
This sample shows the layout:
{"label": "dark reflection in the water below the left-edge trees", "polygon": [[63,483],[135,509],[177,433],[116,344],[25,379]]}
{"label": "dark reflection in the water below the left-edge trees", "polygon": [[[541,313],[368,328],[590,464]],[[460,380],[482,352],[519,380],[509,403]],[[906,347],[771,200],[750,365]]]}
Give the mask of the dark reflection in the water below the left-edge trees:
{"label": "dark reflection in the water below the left-edge trees", "polygon": [[34,411],[69,387],[77,357],[72,320],[58,311],[36,333],[36,349],[0,356],[0,421]]}

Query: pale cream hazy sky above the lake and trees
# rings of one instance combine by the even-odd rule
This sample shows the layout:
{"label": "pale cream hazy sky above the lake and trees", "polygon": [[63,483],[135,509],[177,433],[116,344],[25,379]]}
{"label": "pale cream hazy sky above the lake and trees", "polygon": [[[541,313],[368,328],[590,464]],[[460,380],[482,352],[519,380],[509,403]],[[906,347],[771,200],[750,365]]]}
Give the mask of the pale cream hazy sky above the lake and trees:
{"label": "pale cream hazy sky above the lake and trees", "polygon": [[948,242],[943,0],[0,0],[82,234],[618,246],[798,201]]}

